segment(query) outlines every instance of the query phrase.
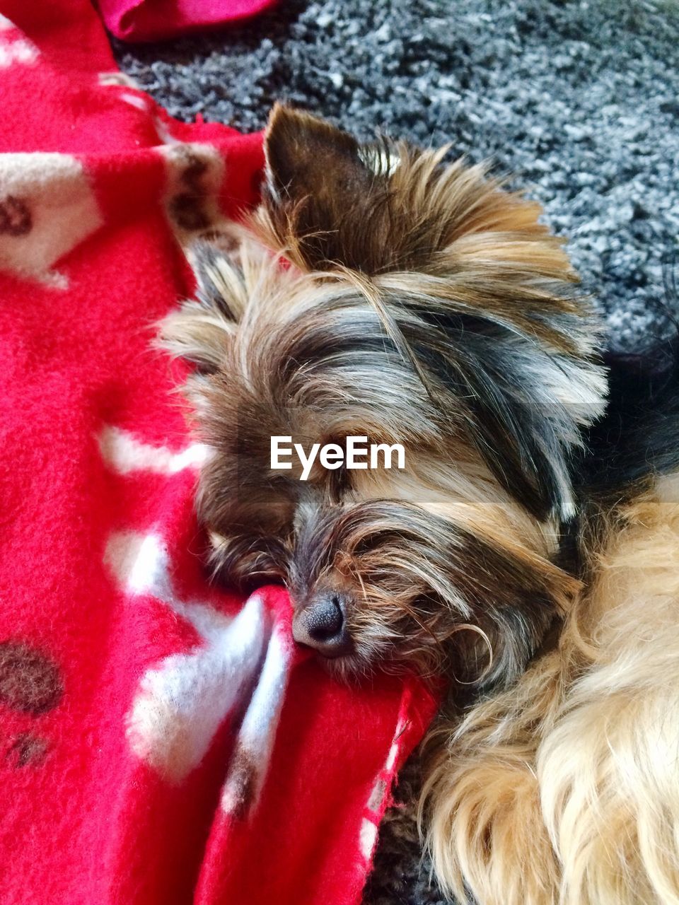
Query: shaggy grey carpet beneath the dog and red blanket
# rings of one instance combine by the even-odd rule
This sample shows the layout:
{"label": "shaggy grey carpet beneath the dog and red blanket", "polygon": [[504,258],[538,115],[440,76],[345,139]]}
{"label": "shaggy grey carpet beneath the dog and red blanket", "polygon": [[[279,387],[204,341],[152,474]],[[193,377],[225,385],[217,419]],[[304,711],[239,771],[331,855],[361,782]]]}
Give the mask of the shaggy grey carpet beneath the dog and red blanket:
{"label": "shaggy grey carpet beneath the dog and red blanket", "polygon": [[[281,0],[221,33],[117,57],[179,119],[263,126],[273,100],[361,138],[376,128],[492,157],[547,210],[610,327],[643,350],[669,329],[679,236],[677,0]],[[416,767],[402,785],[412,799]],[[370,905],[441,901],[408,809],[389,816]]]}

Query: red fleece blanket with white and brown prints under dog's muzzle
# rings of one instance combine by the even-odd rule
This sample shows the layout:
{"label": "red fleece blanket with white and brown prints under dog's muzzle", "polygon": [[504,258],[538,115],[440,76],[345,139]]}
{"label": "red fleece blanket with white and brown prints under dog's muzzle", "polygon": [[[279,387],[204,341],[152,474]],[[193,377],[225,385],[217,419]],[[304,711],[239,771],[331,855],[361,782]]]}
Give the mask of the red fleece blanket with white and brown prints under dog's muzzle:
{"label": "red fleece blanket with white and brown prints under dog's muzzle", "polygon": [[101,77],[86,0],[0,11],[0,900],[355,903],[433,700],[340,686],[282,589],[206,582],[204,451],[150,347],[261,136]]}

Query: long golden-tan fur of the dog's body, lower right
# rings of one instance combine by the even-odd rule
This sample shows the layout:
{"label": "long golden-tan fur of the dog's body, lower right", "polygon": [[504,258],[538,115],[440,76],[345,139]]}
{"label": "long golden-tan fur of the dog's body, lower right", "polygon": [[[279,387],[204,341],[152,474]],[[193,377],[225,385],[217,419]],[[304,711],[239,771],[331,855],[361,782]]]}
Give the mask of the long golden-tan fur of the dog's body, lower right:
{"label": "long golden-tan fur of the dog's body, lower right", "polygon": [[436,730],[427,841],[460,900],[679,902],[678,566],[674,475],[609,527],[558,649]]}

